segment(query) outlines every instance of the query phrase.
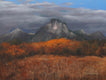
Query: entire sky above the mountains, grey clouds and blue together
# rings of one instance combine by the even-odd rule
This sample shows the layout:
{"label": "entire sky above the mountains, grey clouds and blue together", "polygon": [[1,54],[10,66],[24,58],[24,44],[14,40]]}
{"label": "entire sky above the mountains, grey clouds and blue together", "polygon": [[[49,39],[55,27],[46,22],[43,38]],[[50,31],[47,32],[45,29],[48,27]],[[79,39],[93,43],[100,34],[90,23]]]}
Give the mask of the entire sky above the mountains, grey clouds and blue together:
{"label": "entire sky above the mountains, grey clouds and blue together", "polygon": [[0,0],[0,34],[17,27],[36,32],[52,18],[71,30],[106,35],[106,0]]}

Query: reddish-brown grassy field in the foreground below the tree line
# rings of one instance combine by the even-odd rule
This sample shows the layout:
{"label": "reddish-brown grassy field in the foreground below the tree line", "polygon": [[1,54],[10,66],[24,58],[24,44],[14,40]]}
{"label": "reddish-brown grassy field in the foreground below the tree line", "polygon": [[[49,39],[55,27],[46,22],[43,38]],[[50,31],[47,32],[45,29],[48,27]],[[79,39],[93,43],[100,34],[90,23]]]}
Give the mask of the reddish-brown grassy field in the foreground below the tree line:
{"label": "reddish-brown grassy field in the foreground below the tree line", "polygon": [[106,80],[106,58],[36,55],[0,65],[0,80]]}

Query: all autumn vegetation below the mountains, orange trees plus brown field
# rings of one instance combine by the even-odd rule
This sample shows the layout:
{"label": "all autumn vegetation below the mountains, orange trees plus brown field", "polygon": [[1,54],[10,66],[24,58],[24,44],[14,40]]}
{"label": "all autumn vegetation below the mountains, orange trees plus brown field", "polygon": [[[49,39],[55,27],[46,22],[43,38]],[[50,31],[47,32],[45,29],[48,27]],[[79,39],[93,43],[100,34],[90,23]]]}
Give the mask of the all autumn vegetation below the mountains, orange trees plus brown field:
{"label": "all autumn vegetation below the mountains, orange trees plus brown field", "polygon": [[106,80],[106,41],[0,44],[0,80]]}

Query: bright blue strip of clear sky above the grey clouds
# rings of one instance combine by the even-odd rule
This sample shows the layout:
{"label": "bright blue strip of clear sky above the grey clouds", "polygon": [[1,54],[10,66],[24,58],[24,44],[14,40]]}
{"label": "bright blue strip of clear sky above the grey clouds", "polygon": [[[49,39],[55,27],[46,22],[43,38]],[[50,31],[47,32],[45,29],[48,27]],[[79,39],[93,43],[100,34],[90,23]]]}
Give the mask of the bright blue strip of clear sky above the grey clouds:
{"label": "bright blue strip of clear sky above the grey clouds", "polygon": [[97,9],[97,10],[106,10],[106,0],[5,0],[12,1],[16,4],[28,2],[33,4],[35,2],[49,2],[55,3],[57,5],[67,5],[66,7],[71,8],[88,8],[88,9]]}

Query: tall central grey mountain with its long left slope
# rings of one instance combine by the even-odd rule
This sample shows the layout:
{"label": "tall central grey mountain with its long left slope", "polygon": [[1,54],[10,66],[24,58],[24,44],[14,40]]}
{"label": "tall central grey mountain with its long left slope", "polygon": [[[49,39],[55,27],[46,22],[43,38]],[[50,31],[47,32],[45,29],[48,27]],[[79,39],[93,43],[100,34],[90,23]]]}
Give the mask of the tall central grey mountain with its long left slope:
{"label": "tall central grey mountain with its long left slope", "polygon": [[51,19],[50,22],[39,29],[32,41],[47,41],[61,37],[70,37],[68,26],[59,19]]}

